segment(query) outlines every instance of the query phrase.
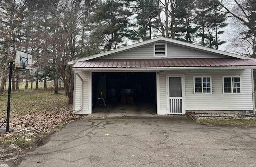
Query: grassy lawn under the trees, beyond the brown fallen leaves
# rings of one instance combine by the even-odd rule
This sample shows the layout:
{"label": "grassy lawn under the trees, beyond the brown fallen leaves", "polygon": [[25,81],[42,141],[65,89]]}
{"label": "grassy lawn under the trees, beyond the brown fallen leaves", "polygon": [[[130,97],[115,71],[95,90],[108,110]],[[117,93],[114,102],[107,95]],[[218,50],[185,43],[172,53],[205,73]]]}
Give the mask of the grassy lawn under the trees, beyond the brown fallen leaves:
{"label": "grassy lawn under the trees, beyond the brown fallen leaves", "polygon": [[[10,114],[29,114],[31,112],[43,112],[59,110],[68,107],[68,96],[64,91],[54,94],[47,90],[24,90],[12,92],[10,102]],[[0,96],[0,117],[6,116],[8,95]]]}

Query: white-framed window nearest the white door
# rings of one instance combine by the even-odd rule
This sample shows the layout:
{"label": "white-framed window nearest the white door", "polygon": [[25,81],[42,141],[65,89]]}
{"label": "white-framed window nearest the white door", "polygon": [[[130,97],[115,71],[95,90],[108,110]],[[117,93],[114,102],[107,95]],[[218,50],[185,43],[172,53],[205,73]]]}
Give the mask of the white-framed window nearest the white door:
{"label": "white-framed window nearest the white door", "polygon": [[212,77],[193,77],[194,93],[212,93]]}

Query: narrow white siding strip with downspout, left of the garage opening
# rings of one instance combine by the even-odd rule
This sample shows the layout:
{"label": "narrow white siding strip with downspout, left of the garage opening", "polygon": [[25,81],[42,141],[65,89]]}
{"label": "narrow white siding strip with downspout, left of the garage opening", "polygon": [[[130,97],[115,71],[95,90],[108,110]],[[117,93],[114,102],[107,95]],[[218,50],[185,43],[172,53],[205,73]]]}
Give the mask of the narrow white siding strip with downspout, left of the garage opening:
{"label": "narrow white siding strip with downspout, left of the garage opening", "polygon": [[[76,114],[89,114],[89,72],[78,71],[78,74],[83,79],[83,105],[82,110]],[[75,86],[74,86],[74,110],[78,110],[81,107],[81,80],[75,74]]]}

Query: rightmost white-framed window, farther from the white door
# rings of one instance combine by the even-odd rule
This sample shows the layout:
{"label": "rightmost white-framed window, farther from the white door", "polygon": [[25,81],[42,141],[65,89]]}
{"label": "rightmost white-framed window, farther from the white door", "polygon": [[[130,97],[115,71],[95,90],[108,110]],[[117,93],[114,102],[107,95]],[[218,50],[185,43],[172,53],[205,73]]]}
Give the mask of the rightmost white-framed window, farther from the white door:
{"label": "rightmost white-framed window, farther from the white door", "polygon": [[241,93],[240,77],[223,77],[223,93]]}

